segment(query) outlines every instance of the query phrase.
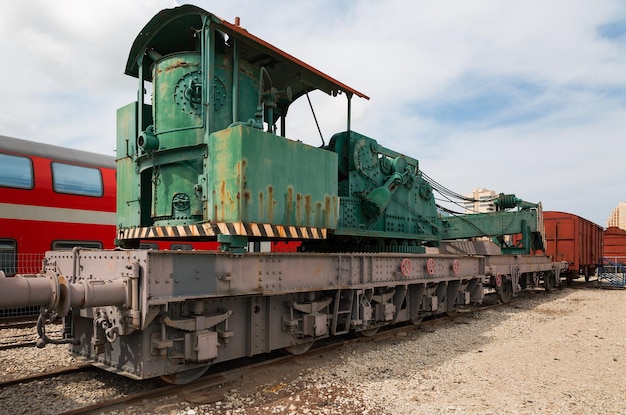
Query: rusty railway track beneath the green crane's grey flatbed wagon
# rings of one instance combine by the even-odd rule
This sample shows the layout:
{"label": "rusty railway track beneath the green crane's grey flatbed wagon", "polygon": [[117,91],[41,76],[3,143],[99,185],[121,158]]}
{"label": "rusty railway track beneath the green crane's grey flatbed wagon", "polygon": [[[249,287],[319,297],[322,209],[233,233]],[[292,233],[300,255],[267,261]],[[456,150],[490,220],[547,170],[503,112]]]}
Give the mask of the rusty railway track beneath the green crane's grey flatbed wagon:
{"label": "rusty railway track beneath the green crane's grey flatbed wagon", "polygon": [[[519,297],[513,298],[512,301],[503,304],[495,298],[495,295],[487,295],[485,302],[481,306],[466,307],[461,311],[448,313],[438,318],[432,318],[422,321],[419,325],[403,325],[394,326],[386,330],[381,330],[379,333],[373,334],[367,337],[351,336],[350,338],[342,338],[340,341],[325,342],[319,341],[316,346],[310,351],[298,355],[282,355],[281,353],[273,353],[269,358],[265,357],[262,361],[259,361],[259,357],[250,359],[241,359],[237,362],[224,362],[216,364],[211,369],[211,372],[200,378],[199,380],[187,384],[187,385],[167,385],[162,386],[156,382],[128,382],[129,387],[122,387],[120,390],[123,392],[115,393],[113,399],[106,397],[98,399],[97,403],[86,403],[79,408],[73,408],[66,412],[55,411],[54,413],[63,414],[102,414],[119,411],[128,407],[136,407],[143,410],[146,405],[154,405],[158,403],[159,407],[167,405],[175,405],[178,402],[189,402],[190,404],[208,404],[224,399],[223,391],[230,390],[231,387],[237,387],[242,379],[257,379],[258,376],[255,373],[264,373],[271,371],[272,367],[276,367],[277,373],[285,372],[285,369],[281,369],[283,365],[289,365],[290,362],[297,363],[300,359],[316,359],[327,353],[344,348],[356,346],[356,343],[365,342],[379,342],[386,338],[392,338],[398,336],[402,332],[410,332],[414,330],[433,331],[437,329],[437,326],[446,324],[449,322],[457,324],[466,324],[467,320],[464,317],[468,317],[475,312],[484,311],[489,308],[495,307],[515,307],[516,303],[523,302],[527,295],[542,295],[542,290],[534,290],[532,292],[523,292]],[[239,365],[235,367],[234,365]],[[289,367],[289,366],[285,366]],[[287,370],[288,371],[288,370]],[[46,381],[44,388],[46,390],[54,390],[54,385],[58,384],[60,388],[67,389],[71,383],[83,382],[84,380],[77,381],[76,377],[79,373],[84,372],[83,378],[87,376],[96,379],[100,379],[96,382],[103,381],[106,387],[117,388],[118,380],[115,379],[115,375],[111,375],[108,372],[100,371],[91,365],[81,365],[76,367],[68,367],[59,370],[54,370],[35,376],[24,377],[20,379],[14,379],[0,383],[0,391],[4,390],[6,393],[20,393],[20,392],[8,392],[11,387],[20,385],[20,390],[23,385],[34,383],[37,381]],[[122,379],[119,379],[122,381]],[[140,386],[140,384],[144,386]],[[147,386],[146,386],[147,385]],[[39,385],[33,388],[39,389],[43,386]],[[70,389],[71,390],[71,389]],[[96,400],[92,401],[96,402]]]}

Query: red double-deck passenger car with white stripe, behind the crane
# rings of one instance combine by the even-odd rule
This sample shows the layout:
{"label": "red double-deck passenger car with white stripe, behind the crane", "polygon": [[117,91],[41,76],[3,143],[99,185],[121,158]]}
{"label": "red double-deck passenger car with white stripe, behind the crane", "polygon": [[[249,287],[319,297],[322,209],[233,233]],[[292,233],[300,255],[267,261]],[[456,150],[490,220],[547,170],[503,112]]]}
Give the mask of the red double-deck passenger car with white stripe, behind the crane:
{"label": "red double-deck passenger car with white stripe, behind the crane", "polygon": [[[36,273],[46,251],[114,248],[115,157],[0,136],[0,270]],[[292,252],[275,242],[250,250]],[[218,248],[217,242],[159,241],[153,249]]]}

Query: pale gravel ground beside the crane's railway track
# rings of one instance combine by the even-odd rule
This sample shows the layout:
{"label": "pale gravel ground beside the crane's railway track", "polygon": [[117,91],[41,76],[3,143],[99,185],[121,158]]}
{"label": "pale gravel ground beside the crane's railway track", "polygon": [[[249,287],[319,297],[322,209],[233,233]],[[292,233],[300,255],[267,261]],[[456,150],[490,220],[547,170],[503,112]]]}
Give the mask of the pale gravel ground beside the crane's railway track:
{"label": "pale gravel ground beside the crane's railway track", "polygon": [[[297,359],[224,385],[207,393],[210,399],[196,392],[187,402],[144,402],[113,413],[626,413],[625,299],[622,290],[538,292],[434,328]],[[26,362],[2,351],[3,372],[6,365],[12,375],[19,367],[44,370],[39,352]],[[63,396],[87,393],[80,383],[70,387],[77,389]],[[0,405],[15,408],[19,397],[3,392]]]}

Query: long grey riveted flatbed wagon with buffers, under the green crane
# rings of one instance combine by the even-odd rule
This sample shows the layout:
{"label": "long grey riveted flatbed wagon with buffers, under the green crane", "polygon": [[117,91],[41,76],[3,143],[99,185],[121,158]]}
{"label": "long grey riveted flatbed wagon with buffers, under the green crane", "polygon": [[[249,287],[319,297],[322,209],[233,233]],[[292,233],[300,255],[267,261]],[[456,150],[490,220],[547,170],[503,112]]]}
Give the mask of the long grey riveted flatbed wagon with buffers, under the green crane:
{"label": "long grey riveted flatbed wagon with buffers, under the green crane", "polygon": [[318,339],[479,303],[483,266],[452,255],[76,250],[48,253],[39,278],[3,283],[66,314],[73,354],[180,383],[212,363],[301,353]]}

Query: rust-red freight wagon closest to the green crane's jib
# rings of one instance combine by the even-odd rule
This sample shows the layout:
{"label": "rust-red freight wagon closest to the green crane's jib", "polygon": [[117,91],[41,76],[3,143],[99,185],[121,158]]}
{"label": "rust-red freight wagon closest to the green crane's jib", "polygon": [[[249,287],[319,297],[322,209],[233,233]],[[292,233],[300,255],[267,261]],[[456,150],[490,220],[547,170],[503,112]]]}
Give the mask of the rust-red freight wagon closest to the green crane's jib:
{"label": "rust-red freight wagon closest to the green crane's jib", "polygon": [[567,261],[567,280],[596,273],[603,257],[604,229],[585,218],[565,212],[543,212],[546,254],[553,261]]}

